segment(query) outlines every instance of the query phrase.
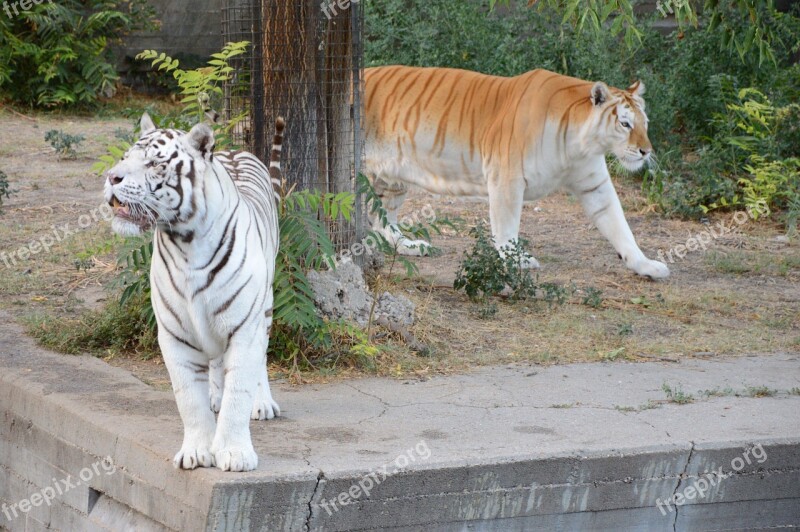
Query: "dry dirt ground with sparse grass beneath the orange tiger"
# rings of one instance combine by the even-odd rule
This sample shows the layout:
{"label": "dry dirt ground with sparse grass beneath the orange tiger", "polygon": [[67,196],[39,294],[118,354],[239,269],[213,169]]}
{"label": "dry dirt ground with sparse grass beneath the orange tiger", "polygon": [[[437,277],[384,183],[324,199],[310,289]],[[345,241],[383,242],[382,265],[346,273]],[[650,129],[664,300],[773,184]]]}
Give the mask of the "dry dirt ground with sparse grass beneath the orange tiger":
{"label": "dry dirt ground with sparse grass beneath the orange tiger", "polygon": [[[86,136],[75,160],[59,159],[44,141],[51,129]],[[120,240],[106,221],[94,221],[102,205],[102,179],[91,165],[119,129],[130,130],[130,121],[29,120],[0,111],[0,170],[16,190],[4,199],[0,215],[0,253],[5,253],[0,255],[0,309],[16,319],[37,313],[77,315],[114,297],[107,287],[115,277],[113,251]],[[740,225],[731,213],[712,216],[708,224],[665,219],[642,198],[633,180],[615,181],[633,232],[651,258],[719,222],[737,230],[713,240],[706,250],[676,258],[669,264],[671,277],[652,282],[624,268],[571,197],[551,196],[526,205],[522,236],[542,264],[540,281],[574,283],[577,292],[552,308],[543,301],[498,300],[497,313],[489,318],[482,318],[479,306],[452,288],[472,240],[466,230],[447,231],[433,240],[441,255],[415,259],[419,276],[408,278],[401,268],[387,275],[384,269],[391,290],[417,304],[412,332],[431,350],[418,356],[389,347],[379,357],[377,372],[424,377],[514,361],[669,361],[800,350],[796,237],[788,239],[772,220]],[[413,194],[404,210],[413,215],[426,205],[463,219],[467,227],[488,219],[484,202],[421,193]],[[71,234],[64,235],[64,229]],[[46,235],[55,240],[49,249],[25,259],[9,258],[31,242],[48,242]],[[90,259],[94,265],[88,270],[77,267]],[[582,303],[591,288],[602,291],[598,308]],[[166,385],[158,359],[119,353],[106,358],[148,383]]]}

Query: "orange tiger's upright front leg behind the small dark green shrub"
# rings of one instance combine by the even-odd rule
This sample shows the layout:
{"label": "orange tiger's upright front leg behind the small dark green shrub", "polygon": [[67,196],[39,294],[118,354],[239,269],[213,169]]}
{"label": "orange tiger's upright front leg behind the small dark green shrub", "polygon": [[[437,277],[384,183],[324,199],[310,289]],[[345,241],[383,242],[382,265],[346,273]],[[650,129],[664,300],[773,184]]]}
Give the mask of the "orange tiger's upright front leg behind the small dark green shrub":
{"label": "orange tiger's upright front leg behind the small dark green shrub", "polygon": [[[499,179],[489,179],[489,220],[492,224],[492,238],[501,257],[505,257],[514,242],[519,239],[519,225],[522,217],[522,202],[525,193],[523,179],[512,183],[500,183]],[[520,267],[539,268],[539,261],[525,253]]]}

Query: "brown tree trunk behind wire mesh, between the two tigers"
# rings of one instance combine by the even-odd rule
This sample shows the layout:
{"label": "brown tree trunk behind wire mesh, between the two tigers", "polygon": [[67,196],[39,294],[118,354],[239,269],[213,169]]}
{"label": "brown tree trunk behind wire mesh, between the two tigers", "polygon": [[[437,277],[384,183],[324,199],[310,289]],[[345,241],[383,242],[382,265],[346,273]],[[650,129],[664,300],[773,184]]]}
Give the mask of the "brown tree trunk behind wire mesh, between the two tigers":
{"label": "brown tree trunk behind wire mesh, between the two tigers", "polygon": [[[263,38],[253,54],[254,152],[268,156],[275,118],[283,116],[284,174],[290,185],[354,192],[360,167],[356,153],[361,156],[355,148],[360,113],[354,114],[354,105],[361,103],[360,75],[354,69],[361,62],[353,32],[360,5],[334,13],[323,12],[319,0],[260,0],[258,7]],[[357,225],[333,221],[334,243],[341,248],[355,241]]]}

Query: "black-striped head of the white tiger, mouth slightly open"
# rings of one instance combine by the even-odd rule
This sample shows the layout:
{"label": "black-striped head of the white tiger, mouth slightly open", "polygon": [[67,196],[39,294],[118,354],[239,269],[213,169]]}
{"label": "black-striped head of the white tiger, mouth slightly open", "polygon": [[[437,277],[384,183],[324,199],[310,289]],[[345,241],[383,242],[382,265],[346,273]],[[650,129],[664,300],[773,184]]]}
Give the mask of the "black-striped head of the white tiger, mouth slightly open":
{"label": "black-striped head of the white tiger, mouth slightly open", "polygon": [[123,236],[189,222],[202,202],[195,185],[213,157],[214,132],[206,124],[188,133],[157,129],[145,113],[140,126],[139,140],[106,172],[112,228]]}

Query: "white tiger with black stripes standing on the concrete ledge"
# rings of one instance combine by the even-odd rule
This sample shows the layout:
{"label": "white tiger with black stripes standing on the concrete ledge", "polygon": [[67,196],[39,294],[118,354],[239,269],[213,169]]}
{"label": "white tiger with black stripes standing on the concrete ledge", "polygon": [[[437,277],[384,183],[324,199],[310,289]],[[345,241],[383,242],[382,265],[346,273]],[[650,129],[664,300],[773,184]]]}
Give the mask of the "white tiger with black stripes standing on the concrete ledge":
{"label": "white tiger with black stripes standing on the concrete ledge", "polygon": [[157,129],[145,114],[106,175],[113,229],[155,229],[152,303],[184,426],[177,468],[255,469],[250,418],[280,415],[266,366],[283,120],[275,127],[267,169],[246,152],[214,153],[206,124]]}

